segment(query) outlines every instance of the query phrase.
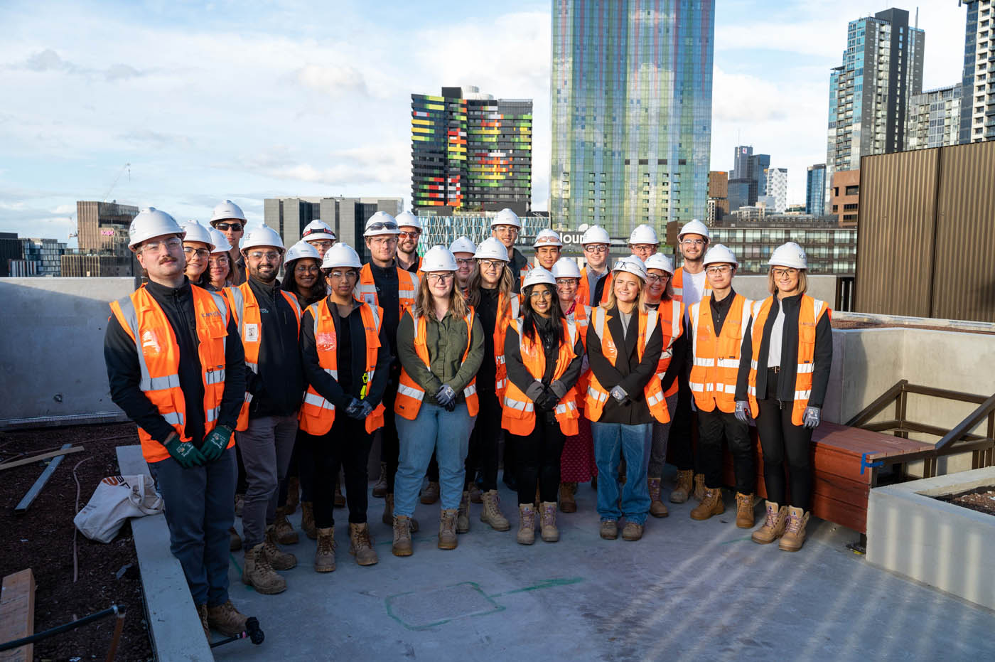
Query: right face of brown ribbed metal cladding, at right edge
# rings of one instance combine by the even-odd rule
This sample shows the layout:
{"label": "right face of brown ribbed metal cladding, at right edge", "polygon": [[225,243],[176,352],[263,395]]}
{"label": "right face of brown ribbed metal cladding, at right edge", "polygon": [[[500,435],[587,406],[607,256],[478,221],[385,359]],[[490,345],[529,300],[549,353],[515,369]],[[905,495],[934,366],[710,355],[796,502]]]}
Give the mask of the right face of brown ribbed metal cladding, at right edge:
{"label": "right face of brown ribbed metal cladding, at right edge", "polygon": [[941,152],[930,317],[995,322],[995,141]]}

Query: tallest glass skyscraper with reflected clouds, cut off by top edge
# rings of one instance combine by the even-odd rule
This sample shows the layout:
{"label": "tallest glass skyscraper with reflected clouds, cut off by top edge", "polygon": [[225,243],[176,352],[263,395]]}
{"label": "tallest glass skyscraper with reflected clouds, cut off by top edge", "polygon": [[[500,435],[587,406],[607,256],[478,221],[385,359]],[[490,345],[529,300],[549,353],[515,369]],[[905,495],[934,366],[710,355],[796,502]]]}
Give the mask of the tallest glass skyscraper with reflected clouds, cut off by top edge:
{"label": "tallest glass skyscraper with reflected clouds, cut off by top edge", "polygon": [[553,0],[552,223],[703,218],[714,0]]}

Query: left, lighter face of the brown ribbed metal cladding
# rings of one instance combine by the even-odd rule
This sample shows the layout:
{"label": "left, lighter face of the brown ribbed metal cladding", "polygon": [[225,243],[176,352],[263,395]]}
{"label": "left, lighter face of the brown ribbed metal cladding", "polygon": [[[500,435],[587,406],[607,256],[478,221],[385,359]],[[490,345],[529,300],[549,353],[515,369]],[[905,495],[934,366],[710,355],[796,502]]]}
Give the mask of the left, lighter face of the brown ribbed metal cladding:
{"label": "left, lighter face of the brown ribbed metal cladding", "polygon": [[854,310],[929,317],[939,149],[861,160]]}

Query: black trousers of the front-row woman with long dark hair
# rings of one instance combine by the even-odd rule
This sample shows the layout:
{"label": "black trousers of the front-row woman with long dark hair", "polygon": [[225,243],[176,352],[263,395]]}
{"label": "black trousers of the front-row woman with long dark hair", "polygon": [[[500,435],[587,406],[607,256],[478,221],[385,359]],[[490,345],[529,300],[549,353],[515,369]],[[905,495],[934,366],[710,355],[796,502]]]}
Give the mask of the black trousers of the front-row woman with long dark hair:
{"label": "black trousers of the front-row woman with long dark hair", "polygon": [[[542,501],[556,501],[559,490],[559,462],[563,452],[563,431],[551,412],[536,412],[535,427],[524,437],[505,430],[505,441],[514,447],[517,462],[518,503],[535,501],[535,486],[539,486]],[[507,467],[505,466],[505,471]]]}

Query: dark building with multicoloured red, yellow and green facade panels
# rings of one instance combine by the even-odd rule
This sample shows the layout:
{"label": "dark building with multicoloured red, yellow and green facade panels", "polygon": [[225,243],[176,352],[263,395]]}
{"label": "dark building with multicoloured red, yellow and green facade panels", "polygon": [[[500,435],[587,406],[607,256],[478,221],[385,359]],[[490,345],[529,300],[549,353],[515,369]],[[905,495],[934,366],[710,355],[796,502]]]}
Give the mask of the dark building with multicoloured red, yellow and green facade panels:
{"label": "dark building with multicoloured red, yellow and green facade panels", "polygon": [[411,95],[411,204],[437,215],[531,209],[532,102],[474,86]]}

